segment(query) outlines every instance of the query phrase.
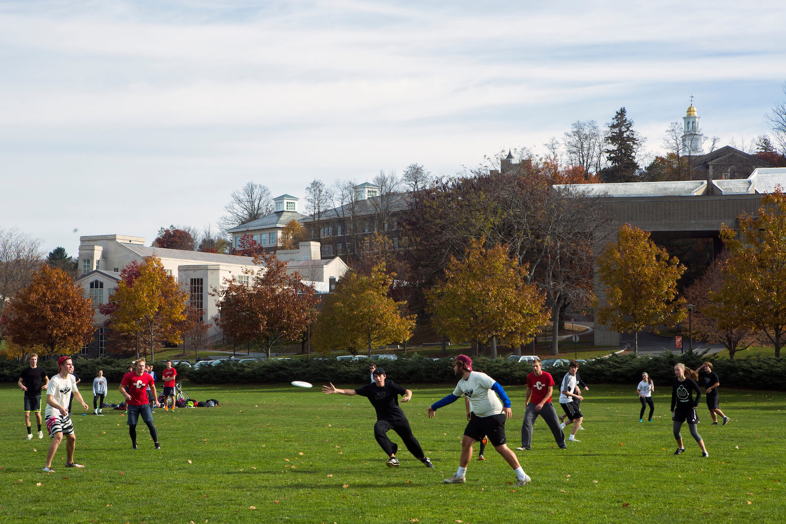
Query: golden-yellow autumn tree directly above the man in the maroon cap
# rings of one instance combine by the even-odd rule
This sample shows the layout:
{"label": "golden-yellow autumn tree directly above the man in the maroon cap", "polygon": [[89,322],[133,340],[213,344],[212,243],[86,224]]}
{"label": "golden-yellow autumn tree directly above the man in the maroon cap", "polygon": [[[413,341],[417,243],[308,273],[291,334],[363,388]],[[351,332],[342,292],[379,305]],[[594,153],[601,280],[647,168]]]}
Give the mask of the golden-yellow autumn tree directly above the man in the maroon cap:
{"label": "golden-yellow autumn tree directly above the man in the maroon cap", "polygon": [[451,257],[445,280],[426,292],[432,324],[457,342],[527,343],[549,318],[545,295],[527,284],[526,267],[509,257],[507,246],[483,244],[472,240],[463,259]]}

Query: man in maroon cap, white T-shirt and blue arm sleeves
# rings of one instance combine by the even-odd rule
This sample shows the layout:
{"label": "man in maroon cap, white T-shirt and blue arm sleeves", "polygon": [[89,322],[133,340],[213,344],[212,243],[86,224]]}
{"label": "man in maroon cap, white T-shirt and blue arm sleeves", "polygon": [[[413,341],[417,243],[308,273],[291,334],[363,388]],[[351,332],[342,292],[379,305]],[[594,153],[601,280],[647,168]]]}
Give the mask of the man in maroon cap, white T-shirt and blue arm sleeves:
{"label": "man in maroon cap, white T-shirt and blue arm sleeves", "polygon": [[[461,459],[458,462],[456,475],[446,478],[446,484],[464,484],[469,460],[472,459],[472,445],[476,440],[487,435],[491,445],[516,472],[516,486],[524,486],[530,482],[524,473],[516,453],[513,453],[505,442],[505,421],[513,416],[510,399],[499,383],[486,373],[472,371],[472,359],[467,355],[458,355],[454,361],[453,371],[459,377],[456,389],[440,401],[428,408],[428,418],[434,418],[437,409],[457,401],[462,396],[469,399],[472,415],[461,438]],[[492,393],[493,392],[493,393]]]}

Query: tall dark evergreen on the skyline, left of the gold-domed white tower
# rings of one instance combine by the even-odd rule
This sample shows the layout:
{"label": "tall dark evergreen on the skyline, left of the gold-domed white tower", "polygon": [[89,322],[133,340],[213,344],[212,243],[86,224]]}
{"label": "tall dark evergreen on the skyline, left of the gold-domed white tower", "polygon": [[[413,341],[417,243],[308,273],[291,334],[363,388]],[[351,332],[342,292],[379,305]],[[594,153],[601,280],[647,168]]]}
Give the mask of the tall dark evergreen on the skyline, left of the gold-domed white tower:
{"label": "tall dark evergreen on the skyline, left of the gold-domed white tower", "polygon": [[604,182],[632,182],[636,180],[639,168],[636,152],[643,139],[634,130],[633,120],[629,120],[625,108],[619,108],[612,122],[608,123],[605,138],[608,148],[604,149],[608,167],[601,170]]}

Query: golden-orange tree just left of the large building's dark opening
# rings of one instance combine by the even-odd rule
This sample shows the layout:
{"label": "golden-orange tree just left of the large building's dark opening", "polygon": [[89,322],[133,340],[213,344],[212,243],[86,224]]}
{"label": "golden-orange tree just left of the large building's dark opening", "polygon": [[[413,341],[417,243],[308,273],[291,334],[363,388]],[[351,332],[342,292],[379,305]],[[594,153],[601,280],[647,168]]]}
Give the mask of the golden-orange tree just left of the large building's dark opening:
{"label": "golden-orange tree just left of the large building's dark opening", "polygon": [[649,233],[623,225],[616,242],[597,258],[598,279],[605,287],[606,306],[597,321],[616,331],[638,334],[647,326],[674,326],[685,318],[685,299],[678,297],[677,280],[685,272],[676,257],[656,246]]}

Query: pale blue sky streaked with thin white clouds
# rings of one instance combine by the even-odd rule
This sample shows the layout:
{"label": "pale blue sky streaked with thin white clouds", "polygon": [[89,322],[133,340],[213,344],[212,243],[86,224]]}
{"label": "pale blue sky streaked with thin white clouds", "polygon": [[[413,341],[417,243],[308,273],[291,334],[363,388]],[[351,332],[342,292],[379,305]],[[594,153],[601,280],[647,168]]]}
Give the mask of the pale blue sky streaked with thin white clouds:
{"label": "pale blue sky streaked with thin white clouds", "polygon": [[690,96],[722,145],[786,101],[786,3],[0,1],[0,227],[214,224],[247,181],[303,197],[475,167],[627,108],[659,153]]}

